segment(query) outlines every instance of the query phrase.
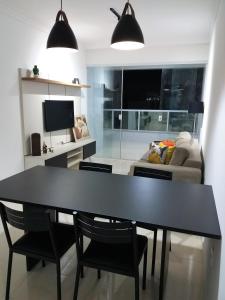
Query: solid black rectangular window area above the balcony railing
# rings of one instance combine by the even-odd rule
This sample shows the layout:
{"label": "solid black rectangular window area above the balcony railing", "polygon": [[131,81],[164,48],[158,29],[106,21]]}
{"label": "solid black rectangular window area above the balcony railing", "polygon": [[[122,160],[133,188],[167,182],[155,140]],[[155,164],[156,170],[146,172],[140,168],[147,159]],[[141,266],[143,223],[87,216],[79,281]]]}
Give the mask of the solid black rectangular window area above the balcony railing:
{"label": "solid black rectangular window area above the balcony railing", "polygon": [[159,109],[162,70],[125,70],[123,109]]}

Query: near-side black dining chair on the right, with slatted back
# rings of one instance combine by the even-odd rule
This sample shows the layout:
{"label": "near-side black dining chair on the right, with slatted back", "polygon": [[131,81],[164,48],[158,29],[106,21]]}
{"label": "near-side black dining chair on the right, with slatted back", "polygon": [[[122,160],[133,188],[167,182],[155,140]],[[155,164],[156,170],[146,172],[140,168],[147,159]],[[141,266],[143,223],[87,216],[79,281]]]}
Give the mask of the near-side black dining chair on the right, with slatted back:
{"label": "near-side black dining chair on the right, with slatted back", "polygon": [[[74,300],[78,298],[82,267],[134,277],[135,300],[139,300],[139,264],[143,261],[142,288],[146,288],[148,239],[137,235],[136,222],[106,223],[95,221],[84,214],[74,212],[74,230],[77,248],[77,273]],[[83,251],[83,237],[90,239]]]}

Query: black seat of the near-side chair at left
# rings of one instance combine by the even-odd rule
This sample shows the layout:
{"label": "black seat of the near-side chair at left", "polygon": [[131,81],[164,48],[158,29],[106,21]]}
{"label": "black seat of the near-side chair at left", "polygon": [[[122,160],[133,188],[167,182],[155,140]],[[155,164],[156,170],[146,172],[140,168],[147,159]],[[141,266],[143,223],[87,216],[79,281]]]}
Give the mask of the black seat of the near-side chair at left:
{"label": "black seat of the near-side chair at left", "polygon": [[[74,227],[68,224],[53,223],[55,242],[61,257],[75,243]],[[55,259],[49,232],[28,232],[13,244],[15,252]]]}

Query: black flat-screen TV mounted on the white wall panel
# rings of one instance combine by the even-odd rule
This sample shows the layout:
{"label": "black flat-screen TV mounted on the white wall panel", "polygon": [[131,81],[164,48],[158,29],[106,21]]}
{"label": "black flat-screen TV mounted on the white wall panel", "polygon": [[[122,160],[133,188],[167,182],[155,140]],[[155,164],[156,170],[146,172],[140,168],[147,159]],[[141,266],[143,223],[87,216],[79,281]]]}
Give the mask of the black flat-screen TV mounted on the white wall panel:
{"label": "black flat-screen TV mounted on the white wall panel", "polygon": [[73,101],[46,100],[44,124],[47,132],[74,127]]}

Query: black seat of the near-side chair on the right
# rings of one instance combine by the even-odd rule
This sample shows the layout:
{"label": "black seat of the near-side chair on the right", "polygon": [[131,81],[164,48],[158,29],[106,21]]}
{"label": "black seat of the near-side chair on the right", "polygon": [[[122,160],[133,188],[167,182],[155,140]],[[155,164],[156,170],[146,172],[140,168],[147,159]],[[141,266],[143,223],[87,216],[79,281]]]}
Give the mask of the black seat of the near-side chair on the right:
{"label": "black seat of the near-side chair on the right", "polygon": [[[148,239],[145,236],[137,235],[137,259],[138,264],[147,247]],[[111,269],[112,272],[133,274],[132,244],[105,244],[91,241],[88,245],[82,262],[89,266],[98,266],[99,269]]]}

